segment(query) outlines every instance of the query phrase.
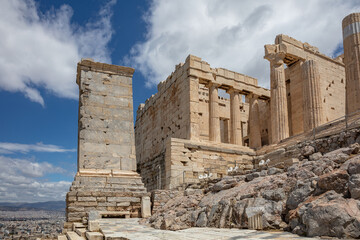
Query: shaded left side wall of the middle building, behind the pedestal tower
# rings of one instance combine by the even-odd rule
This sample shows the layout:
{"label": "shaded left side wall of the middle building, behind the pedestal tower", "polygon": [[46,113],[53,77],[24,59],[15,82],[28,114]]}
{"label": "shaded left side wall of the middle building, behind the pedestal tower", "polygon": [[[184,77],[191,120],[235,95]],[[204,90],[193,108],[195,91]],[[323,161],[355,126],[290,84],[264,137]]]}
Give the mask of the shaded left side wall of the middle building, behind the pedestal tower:
{"label": "shaded left side wall of the middle building, behind the pedestal tower", "polygon": [[188,138],[190,89],[185,70],[184,66],[178,65],[166,81],[159,83],[158,92],[137,111],[137,165],[148,190],[158,187],[159,173],[165,172],[162,156],[166,139]]}

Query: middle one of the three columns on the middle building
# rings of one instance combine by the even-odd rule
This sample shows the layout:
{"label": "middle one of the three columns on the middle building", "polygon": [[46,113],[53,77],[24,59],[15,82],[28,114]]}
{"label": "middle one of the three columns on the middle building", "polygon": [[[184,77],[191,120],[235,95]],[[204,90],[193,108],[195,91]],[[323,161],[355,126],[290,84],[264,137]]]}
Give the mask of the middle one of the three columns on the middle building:
{"label": "middle one of the three columns on the middle building", "polygon": [[228,90],[228,93],[230,94],[230,143],[243,145],[240,116],[240,93],[233,88]]}

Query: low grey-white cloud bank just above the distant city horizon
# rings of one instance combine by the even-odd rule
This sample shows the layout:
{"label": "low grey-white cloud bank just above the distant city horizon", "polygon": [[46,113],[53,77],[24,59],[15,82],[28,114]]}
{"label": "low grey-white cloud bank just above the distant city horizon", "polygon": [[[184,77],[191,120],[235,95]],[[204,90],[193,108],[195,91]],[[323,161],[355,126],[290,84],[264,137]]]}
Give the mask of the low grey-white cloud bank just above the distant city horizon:
{"label": "low grey-white cloud bank just above the distant city horizon", "polygon": [[38,202],[64,200],[71,182],[40,179],[65,170],[48,162],[0,156],[0,201]]}

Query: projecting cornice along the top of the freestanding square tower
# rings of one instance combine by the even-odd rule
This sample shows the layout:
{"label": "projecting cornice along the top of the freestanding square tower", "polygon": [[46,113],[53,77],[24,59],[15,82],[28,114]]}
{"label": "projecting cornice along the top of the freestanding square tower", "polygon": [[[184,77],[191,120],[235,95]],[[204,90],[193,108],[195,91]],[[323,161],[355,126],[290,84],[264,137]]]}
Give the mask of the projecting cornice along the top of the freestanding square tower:
{"label": "projecting cornice along the top of the freestanding square tower", "polygon": [[113,64],[107,64],[107,63],[94,62],[90,58],[85,58],[85,59],[81,59],[81,61],[78,63],[78,66],[77,66],[77,77],[76,77],[77,84],[79,84],[81,70],[103,72],[103,73],[116,74],[116,75],[124,75],[127,77],[132,77],[135,72],[134,68],[118,66],[118,65],[113,65]]}

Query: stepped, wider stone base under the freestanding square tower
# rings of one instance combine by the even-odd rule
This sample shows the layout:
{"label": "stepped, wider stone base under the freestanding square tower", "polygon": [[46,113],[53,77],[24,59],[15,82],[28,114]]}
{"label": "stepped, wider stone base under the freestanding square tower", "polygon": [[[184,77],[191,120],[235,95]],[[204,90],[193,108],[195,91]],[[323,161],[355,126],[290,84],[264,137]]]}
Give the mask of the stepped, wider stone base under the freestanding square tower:
{"label": "stepped, wider stone base under the freestanding square tower", "polygon": [[132,171],[80,171],[67,194],[67,221],[82,222],[90,211],[128,211],[141,217],[143,197],[149,198],[141,177]]}

